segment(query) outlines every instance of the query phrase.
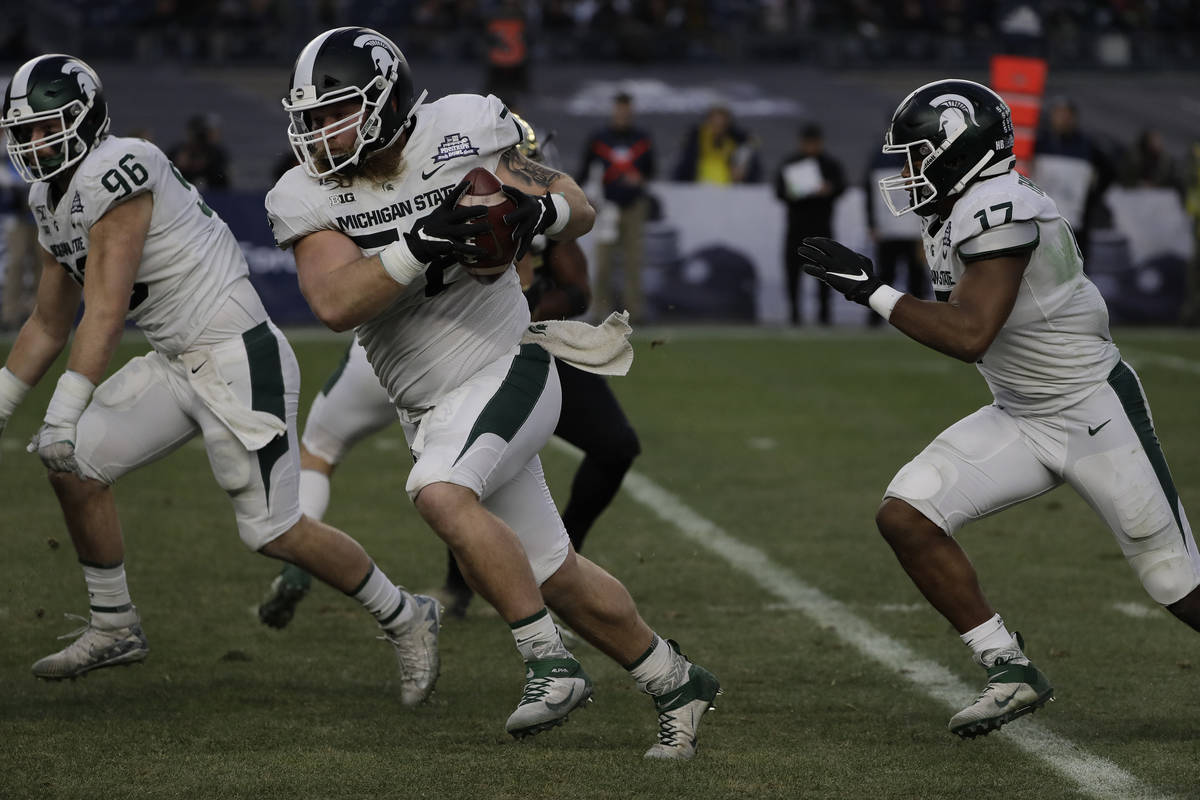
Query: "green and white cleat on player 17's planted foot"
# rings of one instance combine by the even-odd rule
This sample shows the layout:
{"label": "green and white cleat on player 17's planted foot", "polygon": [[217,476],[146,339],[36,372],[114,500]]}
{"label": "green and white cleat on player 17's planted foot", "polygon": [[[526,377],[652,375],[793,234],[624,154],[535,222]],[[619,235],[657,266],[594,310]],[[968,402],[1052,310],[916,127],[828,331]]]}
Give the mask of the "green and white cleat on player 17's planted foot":
{"label": "green and white cleat on player 17's planted foot", "polygon": [[1054,686],[1025,657],[1024,648],[1025,642],[1018,633],[1013,646],[985,650],[976,656],[979,666],[988,669],[988,685],[971,705],[950,718],[950,733],[964,739],[986,736],[1054,699]]}

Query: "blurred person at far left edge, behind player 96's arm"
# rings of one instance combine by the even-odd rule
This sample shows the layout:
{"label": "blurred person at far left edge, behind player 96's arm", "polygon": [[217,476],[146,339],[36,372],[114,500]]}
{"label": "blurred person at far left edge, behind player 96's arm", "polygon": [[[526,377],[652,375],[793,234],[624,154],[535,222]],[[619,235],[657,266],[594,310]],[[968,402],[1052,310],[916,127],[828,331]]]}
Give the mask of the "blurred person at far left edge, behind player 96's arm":
{"label": "blurred person at far left edge, behind player 96's arm", "polygon": [[[2,148],[4,137],[0,137]],[[34,309],[42,261],[37,225],[29,210],[29,184],[20,179],[8,158],[0,166],[0,231],[5,234],[0,330],[12,331],[20,327]]]}

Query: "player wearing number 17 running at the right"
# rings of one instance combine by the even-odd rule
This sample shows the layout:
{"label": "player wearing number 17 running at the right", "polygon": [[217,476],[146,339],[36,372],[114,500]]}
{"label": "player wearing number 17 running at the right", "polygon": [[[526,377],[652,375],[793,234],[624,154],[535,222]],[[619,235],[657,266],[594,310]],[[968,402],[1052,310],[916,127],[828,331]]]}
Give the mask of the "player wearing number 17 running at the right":
{"label": "player wearing number 17 running at the right", "polygon": [[1040,708],[1054,688],[984,597],[954,539],[964,524],[1067,483],[1112,530],[1150,596],[1196,630],[1200,555],[1074,234],[1013,170],[1004,101],[968,80],[922,86],[896,108],[883,151],[906,157],[880,188],[893,213],[925,217],[937,300],[900,294],[829,239],[800,251],[804,269],[847,299],[976,362],[995,397],[901,468],[876,515],[901,566],[988,670],[983,692],[949,722],[973,738]]}

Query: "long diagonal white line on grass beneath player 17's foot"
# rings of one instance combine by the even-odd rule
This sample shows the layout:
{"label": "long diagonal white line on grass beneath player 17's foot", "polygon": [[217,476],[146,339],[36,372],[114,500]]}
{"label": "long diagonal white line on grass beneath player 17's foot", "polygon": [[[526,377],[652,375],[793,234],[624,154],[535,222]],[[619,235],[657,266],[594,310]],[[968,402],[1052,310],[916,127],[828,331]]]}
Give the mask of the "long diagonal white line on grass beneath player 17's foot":
{"label": "long diagonal white line on grass beneath player 17's foot", "polygon": [[[551,443],[563,452],[576,457],[580,455],[578,450],[557,438],[551,439]],[[785,607],[802,612],[948,709],[958,711],[978,692],[978,685],[968,686],[946,667],[922,658],[907,645],[856,615],[845,603],[800,581],[758,548],[728,535],[644,475],[629,471],[623,488],[656,517],[673,525],[684,539],[710,551],[781,600]],[[1148,800],[1163,796],[1112,762],[1088,753],[1076,742],[1052,733],[1033,720],[1021,720],[995,735],[1040,759],[1093,798]]]}

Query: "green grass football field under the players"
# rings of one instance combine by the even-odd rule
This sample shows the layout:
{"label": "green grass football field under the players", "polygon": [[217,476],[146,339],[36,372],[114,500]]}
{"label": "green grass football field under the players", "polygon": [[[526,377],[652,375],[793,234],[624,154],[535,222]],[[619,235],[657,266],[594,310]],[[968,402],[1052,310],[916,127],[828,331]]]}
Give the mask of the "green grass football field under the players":
{"label": "green grass football field under the players", "polygon": [[[1117,341],[1196,515],[1200,339],[1118,331]],[[295,342],[307,408],[343,344]],[[896,469],[989,401],[976,369],[890,333],[706,329],[636,344],[631,374],[613,385],[642,439],[638,485],[665,489],[772,570],[941,664],[970,686],[968,702],[982,670],[872,518]],[[144,349],[130,342],[120,361]],[[642,760],[653,704],[588,646],[577,655],[596,702],[563,728],[511,741],[504,720],[521,692],[520,657],[504,624],[478,607],[446,622],[437,693],[406,710],[390,648],[347,597],[318,587],[282,632],[252,616],[276,564],[242,547],[194,443],[116,489],[150,658],[36,681],[30,664],[76,625],[62,613],[86,613],[53,493],[36,458],[19,452],[52,387],[44,381],[13,419],[0,461],[0,798],[1128,796],[1016,746],[1028,720],[1010,735],[952,736],[952,709],[905,679],[906,663],[868,658],[847,631],[780,602],[752,570],[682,535],[635,492],[618,497],[584,552],[625,582],[653,627],[720,676],[725,694],[694,762]],[[547,449],[544,461],[562,501],[574,457]],[[404,497],[408,464],[398,427],[364,443],[335,476],[328,519],[421,590],[440,582],[444,551]],[[1200,637],[1153,606],[1086,505],[1062,488],[960,540],[1055,684],[1057,702],[1031,730],[1105,759],[1144,794],[1200,796]]]}

